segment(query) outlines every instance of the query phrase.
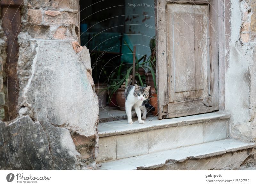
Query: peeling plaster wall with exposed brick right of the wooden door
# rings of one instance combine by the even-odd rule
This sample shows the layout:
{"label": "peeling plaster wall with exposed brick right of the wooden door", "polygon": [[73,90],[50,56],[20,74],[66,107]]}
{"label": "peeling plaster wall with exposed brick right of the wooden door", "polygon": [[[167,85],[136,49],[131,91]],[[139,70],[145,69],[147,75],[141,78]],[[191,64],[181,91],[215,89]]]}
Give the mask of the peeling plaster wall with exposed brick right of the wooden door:
{"label": "peeling plaster wall with exposed brick right of the wooden door", "polygon": [[256,142],[256,2],[225,1],[225,110],[230,137]]}

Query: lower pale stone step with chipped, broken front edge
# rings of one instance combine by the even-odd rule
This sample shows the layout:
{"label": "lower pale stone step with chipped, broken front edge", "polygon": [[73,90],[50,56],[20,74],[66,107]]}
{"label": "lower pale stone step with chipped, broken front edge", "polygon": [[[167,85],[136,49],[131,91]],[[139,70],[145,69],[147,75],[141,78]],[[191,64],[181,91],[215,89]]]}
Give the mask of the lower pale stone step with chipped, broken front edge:
{"label": "lower pale stone step with chipped, broken front edge", "polygon": [[97,167],[98,170],[149,170],[163,167],[169,161],[183,162],[188,159],[205,159],[255,146],[255,143],[245,143],[229,138],[99,163]]}

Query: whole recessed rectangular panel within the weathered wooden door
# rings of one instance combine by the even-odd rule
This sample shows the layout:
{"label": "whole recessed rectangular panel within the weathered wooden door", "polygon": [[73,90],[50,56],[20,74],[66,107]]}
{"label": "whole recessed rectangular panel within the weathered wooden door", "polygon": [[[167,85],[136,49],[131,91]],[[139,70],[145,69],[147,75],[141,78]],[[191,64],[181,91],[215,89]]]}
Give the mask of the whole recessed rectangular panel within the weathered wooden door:
{"label": "whole recessed rectangular panel within the weathered wooden door", "polygon": [[207,5],[180,6],[167,4],[170,102],[208,96]]}

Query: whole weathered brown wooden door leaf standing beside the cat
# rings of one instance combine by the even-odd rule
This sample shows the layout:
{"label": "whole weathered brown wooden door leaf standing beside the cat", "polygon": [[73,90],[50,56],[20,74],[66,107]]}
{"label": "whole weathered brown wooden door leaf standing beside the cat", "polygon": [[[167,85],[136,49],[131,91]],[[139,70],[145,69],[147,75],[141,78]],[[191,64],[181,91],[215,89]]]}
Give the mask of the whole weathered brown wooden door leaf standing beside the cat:
{"label": "whole weathered brown wooden door leaf standing beside the cat", "polygon": [[158,116],[219,110],[217,0],[156,0]]}

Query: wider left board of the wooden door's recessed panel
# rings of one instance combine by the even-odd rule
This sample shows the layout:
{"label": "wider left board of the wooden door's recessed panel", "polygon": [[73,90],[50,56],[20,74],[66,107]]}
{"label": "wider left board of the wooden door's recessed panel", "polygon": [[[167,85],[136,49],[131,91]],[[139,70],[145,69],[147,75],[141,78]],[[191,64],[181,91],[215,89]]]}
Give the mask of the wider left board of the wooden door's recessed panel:
{"label": "wider left board of the wooden door's recessed panel", "polygon": [[[195,90],[195,56],[194,56],[194,20],[189,14],[193,14],[193,6],[184,5],[188,13],[180,12],[180,5],[167,4],[168,44],[170,46],[169,61],[172,61],[171,81],[174,84],[174,92]],[[172,37],[173,36],[173,37]],[[172,78],[173,77],[173,78]],[[173,79],[173,80],[172,80]]]}

